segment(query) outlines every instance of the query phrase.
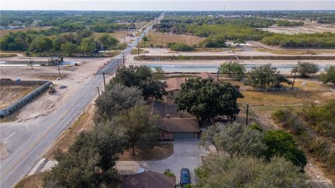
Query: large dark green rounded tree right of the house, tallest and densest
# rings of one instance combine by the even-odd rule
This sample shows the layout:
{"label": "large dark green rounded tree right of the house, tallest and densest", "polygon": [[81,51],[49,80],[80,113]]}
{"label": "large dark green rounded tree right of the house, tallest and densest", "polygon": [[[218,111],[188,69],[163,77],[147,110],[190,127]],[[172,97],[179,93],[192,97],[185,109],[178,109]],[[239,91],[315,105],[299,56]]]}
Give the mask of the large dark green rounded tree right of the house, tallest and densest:
{"label": "large dark green rounded tree right of the house, tallest and densest", "polygon": [[177,110],[188,111],[200,120],[216,116],[235,118],[239,113],[237,98],[243,95],[236,86],[213,79],[188,79],[174,100]]}

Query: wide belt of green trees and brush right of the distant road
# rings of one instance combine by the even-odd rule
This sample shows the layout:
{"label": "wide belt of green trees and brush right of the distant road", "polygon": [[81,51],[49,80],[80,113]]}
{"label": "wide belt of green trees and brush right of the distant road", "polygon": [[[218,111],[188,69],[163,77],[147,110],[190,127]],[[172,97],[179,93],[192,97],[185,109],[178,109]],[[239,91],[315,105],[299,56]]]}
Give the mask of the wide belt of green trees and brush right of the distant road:
{"label": "wide belt of green trees and brush right of the distant road", "polygon": [[[194,18],[187,18],[194,19]],[[225,47],[226,40],[260,40],[267,45],[280,47],[335,47],[335,33],[297,33],[293,35],[285,33],[269,33],[255,29],[248,24],[235,24],[232,22],[218,23],[178,23],[163,22],[156,27],[161,32],[192,33],[195,36],[206,37],[199,46]],[[168,19],[169,21],[169,19]],[[278,26],[290,24],[288,21],[278,20]],[[241,42],[243,43],[243,42]]]}

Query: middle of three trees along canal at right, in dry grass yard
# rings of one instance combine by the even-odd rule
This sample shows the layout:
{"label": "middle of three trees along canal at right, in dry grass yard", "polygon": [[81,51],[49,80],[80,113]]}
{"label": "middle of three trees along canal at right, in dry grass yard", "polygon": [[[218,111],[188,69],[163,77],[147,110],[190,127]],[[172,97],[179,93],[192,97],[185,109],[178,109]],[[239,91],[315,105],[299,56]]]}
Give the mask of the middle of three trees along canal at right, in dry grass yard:
{"label": "middle of three trees along canal at right, in dry grass yard", "polygon": [[246,84],[255,88],[279,87],[282,82],[291,84],[291,81],[281,75],[276,68],[272,68],[270,63],[251,68],[246,77]]}

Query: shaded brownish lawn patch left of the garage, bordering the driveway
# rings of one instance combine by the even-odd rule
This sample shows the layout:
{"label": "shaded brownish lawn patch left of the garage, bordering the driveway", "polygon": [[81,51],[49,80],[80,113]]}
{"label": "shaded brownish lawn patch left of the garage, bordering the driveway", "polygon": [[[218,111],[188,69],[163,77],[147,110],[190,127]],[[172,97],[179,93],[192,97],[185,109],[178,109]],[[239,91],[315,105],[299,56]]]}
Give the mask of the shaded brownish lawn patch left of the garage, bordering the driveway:
{"label": "shaded brownish lawn patch left of the garage, bordering the driveway", "polygon": [[154,148],[135,148],[135,156],[131,155],[131,149],[124,150],[119,157],[120,161],[147,161],[159,160],[170,157],[173,154],[173,143],[157,143]]}

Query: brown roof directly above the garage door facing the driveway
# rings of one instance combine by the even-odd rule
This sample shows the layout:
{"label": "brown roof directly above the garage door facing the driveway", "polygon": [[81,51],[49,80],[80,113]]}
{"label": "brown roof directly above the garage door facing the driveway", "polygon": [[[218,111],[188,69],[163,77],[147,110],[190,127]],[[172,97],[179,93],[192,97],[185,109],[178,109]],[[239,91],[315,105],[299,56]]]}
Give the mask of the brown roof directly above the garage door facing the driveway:
{"label": "brown roof directly above the garage door facing the driveway", "polygon": [[166,132],[200,132],[195,118],[161,118],[157,127]]}

